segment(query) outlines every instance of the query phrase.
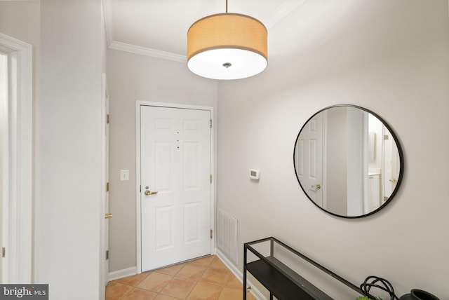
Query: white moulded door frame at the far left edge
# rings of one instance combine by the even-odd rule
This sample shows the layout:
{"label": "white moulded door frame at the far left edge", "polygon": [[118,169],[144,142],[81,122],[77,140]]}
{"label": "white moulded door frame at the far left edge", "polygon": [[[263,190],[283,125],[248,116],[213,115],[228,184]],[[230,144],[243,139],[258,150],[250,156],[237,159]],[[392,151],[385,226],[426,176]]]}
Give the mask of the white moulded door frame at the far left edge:
{"label": "white moulded door frame at the far left edge", "polygon": [[[8,139],[3,229],[6,257],[4,283],[32,282],[32,46],[0,33],[0,50],[15,60],[17,89],[7,100]],[[9,71],[8,71],[9,72]],[[8,75],[9,76],[9,75]],[[6,222],[5,222],[6,221]],[[6,223],[6,224],[5,224]],[[5,247],[4,246],[4,247]]]}

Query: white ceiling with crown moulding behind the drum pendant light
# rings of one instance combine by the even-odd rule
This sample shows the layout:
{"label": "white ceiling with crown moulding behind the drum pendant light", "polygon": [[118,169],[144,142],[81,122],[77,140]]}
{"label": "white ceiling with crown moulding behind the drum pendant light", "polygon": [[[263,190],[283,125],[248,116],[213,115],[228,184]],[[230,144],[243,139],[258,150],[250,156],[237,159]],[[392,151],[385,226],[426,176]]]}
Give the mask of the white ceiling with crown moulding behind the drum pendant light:
{"label": "white ceiling with crown moulding behind the drum pendant light", "polygon": [[[228,0],[228,12],[257,18],[269,31],[303,2]],[[225,11],[226,0],[105,0],[109,48],[183,61],[190,25]]]}

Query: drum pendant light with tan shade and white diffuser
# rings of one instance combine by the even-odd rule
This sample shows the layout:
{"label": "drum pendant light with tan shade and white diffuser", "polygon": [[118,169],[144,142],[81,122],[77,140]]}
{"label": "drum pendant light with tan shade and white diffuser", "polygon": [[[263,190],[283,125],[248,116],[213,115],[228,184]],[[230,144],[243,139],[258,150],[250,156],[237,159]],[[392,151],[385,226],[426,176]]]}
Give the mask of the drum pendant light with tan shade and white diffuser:
{"label": "drum pendant light with tan shade and white diffuser", "polygon": [[227,12],[194,22],[187,32],[187,67],[210,79],[243,79],[267,67],[267,28]]}

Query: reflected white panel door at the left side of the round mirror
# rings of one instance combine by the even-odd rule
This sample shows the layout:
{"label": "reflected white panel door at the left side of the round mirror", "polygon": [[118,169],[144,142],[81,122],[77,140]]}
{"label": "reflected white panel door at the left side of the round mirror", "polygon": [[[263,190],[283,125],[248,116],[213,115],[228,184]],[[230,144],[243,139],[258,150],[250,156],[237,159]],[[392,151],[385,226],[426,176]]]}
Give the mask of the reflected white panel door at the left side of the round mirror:
{"label": "reflected white panel door at the left side of the round mirror", "polygon": [[316,114],[303,128],[301,138],[297,139],[295,149],[297,177],[311,200],[326,208],[323,201],[323,114]]}

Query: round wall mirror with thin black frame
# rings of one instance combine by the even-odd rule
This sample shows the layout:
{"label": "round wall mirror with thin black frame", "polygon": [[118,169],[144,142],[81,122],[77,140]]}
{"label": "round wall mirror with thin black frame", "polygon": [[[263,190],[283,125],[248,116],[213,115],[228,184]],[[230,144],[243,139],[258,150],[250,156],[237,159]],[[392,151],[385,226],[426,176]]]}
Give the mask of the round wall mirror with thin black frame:
{"label": "round wall mirror with thin black frame", "polygon": [[393,130],[368,109],[327,107],[302,126],[293,154],[307,197],[338,217],[373,214],[394,197],[403,177],[403,154]]}

